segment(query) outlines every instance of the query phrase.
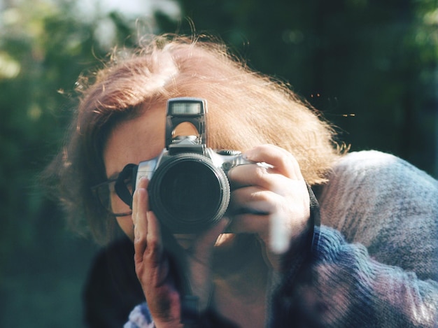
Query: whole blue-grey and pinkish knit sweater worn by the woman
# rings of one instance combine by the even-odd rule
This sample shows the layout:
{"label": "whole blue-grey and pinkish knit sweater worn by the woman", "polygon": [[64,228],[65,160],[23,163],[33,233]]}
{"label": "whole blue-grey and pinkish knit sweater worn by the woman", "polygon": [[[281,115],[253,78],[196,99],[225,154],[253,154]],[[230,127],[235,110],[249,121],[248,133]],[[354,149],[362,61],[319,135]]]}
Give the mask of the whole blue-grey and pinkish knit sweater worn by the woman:
{"label": "whole blue-grey and pinkish knit sweater worn by the woman", "polygon": [[[437,180],[352,152],[319,201],[313,248],[272,283],[267,327],[438,327]],[[154,327],[146,304],[125,327]]]}

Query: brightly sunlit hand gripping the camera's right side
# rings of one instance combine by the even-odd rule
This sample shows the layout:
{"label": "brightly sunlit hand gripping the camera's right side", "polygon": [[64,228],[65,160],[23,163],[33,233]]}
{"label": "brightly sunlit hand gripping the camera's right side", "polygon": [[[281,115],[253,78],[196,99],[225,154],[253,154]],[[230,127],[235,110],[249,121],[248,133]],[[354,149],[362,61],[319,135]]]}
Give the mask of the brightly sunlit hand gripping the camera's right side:
{"label": "brightly sunlit hand gripping the camera's right side", "polygon": [[229,210],[236,213],[229,229],[258,234],[269,262],[278,269],[280,255],[299,244],[310,229],[309,191],[297,160],[283,148],[261,145],[243,155],[271,167],[248,164],[229,171]]}

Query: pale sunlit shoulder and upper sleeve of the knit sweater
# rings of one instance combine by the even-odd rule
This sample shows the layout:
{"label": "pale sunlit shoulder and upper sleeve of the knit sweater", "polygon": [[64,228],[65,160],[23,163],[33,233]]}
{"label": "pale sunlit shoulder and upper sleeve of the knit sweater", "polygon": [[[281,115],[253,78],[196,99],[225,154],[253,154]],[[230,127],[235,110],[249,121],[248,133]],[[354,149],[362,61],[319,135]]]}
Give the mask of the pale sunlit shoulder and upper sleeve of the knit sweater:
{"label": "pale sunlit shoulder and upper sleeve of the knit sweater", "polygon": [[393,155],[353,152],[334,166],[318,200],[321,222],[348,243],[423,280],[437,278],[438,182],[425,172]]}

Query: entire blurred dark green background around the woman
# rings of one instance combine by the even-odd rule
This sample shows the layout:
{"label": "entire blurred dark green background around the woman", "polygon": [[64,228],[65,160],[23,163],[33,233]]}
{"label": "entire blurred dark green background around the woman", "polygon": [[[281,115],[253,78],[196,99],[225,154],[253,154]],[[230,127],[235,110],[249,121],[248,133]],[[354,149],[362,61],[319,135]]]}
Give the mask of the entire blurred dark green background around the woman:
{"label": "entire blurred dark green background around the woman", "polygon": [[352,150],[437,178],[436,0],[0,0],[0,327],[82,327],[99,246],[66,229],[38,173],[62,145],[75,82],[143,34],[219,36],[288,80]]}

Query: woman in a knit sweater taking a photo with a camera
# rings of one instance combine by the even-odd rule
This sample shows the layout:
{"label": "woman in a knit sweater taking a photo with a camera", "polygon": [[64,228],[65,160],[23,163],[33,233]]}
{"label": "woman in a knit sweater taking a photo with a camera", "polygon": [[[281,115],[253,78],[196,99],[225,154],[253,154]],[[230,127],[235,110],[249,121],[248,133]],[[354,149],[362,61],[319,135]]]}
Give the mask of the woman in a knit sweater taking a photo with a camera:
{"label": "woman in a knit sweater taking a photo with a camera", "polygon": [[[80,87],[69,143],[48,172],[71,218],[84,215],[96,236],[115,218],[134,242],[146,303],[125,327],[435,327],[436,180],[391,155],[345,155],[315,110],[221,43],[160,36]],[[105,209],[93,190],[160,155],[175,97],[206,99],[209,148],[269,165],[231,169],[227,216],[169,236],[148,179],[132,210],[114,193]]]}

